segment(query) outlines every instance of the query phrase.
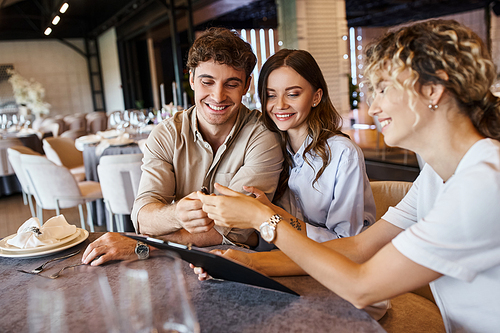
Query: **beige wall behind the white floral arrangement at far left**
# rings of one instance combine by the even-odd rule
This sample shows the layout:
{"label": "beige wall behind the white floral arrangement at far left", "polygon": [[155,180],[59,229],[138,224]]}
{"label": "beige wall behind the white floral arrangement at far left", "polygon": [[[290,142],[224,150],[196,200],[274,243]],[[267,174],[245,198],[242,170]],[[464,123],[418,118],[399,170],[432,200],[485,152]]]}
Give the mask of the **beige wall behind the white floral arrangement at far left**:
{"label": "beige wall behind the white floral arrangement at far left", "polygon": [[[83,40],[70,42],[84,49]],[[0,64],[42,84],[51,116],[94,110],[86,59],[58,41],[0,42]]]}

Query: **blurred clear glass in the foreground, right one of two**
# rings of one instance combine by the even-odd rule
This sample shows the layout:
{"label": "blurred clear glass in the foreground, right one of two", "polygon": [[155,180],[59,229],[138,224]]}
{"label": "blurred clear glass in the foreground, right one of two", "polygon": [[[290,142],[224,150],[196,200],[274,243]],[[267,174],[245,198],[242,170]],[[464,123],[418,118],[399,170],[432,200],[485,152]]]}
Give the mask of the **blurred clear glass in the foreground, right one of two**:
{"label": "blurred clear glass in the foreground, right one of two", "polygon": [[175,254],[121,265],[118,304],[123,332],[200,332]]}

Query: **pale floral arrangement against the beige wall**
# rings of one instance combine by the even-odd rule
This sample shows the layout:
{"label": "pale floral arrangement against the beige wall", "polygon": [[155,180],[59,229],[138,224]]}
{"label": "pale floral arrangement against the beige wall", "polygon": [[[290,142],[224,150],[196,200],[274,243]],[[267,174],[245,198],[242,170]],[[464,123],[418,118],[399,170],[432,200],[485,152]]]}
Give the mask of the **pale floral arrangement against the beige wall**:
{"label": "pale floral arrangement against the beige wall", "polygon": [[10,74],[9,82],[14,90],[14,98],[18,105],[26,106],[36,116],[49,114],[50,104],[43,101],[45,89],[40,82],[33,78],[27,80],[13,69],[7,70]]}

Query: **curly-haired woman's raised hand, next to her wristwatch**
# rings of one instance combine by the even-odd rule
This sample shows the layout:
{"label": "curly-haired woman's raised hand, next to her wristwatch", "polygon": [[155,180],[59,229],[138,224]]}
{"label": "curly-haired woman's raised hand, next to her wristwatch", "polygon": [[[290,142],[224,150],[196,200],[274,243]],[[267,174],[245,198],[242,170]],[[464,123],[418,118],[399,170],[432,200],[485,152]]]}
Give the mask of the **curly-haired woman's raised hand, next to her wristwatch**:
{"label": "curly-haired woman's raised hand, next to her wristwatch", "polygon": [[214,184],[222,195],[204,195],[198,192],[203,202],[203,210],[215,224],[222,227],[258,229],[267,221],[274,211],[258,199],[233,191],[227,187]]}

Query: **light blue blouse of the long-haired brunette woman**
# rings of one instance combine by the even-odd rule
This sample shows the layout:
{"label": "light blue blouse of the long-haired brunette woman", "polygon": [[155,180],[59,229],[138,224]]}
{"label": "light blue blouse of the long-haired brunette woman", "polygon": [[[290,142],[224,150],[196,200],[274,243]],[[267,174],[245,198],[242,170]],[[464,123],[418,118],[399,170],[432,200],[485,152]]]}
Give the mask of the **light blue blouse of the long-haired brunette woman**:
{"label": "light blue blouse of the long-haired brunette woman", "polygon": [[363,152],[346,137],[330,137],[330,163],[313,183],[323,160],[309,152],[309,164],[304,161],[304,149],[311,140],[307,137],[295,154],[288,147],[293,159],[288,186],[297,215],[307,222],[308,237],[318,242],[354,236],[375,222],[375,201]]}

